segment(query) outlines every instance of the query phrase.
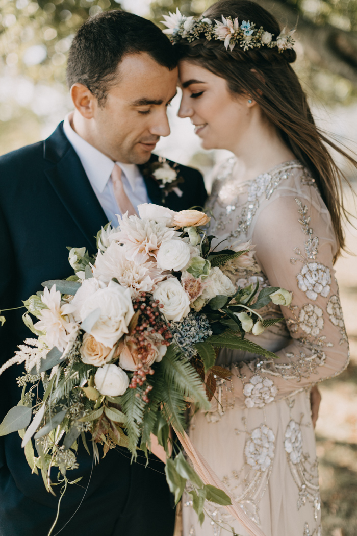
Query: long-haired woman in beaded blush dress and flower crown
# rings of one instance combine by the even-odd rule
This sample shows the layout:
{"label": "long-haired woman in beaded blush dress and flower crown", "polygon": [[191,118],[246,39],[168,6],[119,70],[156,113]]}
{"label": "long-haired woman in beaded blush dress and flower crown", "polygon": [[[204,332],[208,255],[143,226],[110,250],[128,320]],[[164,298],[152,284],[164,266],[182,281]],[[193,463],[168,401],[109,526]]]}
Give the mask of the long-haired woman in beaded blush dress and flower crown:
{"label": "long-haired woman in beaded blush dress and flower crown", "polygon": [[[234,154],[215,175],[209,233],[225,247],[255,244],[258,273],[226,271],[237,286],[284,287],[293,300],[267,306],[265,315],[284,320],[257,339],[278,359],[219,354],[231,379],[219,380],[217,400],[193,416],[189,435],[266,536],[321,536],[310,390],[348,363],[333,270],[344,248],[341,175],[290,66],[293,32],[280,33],[248,0],[222,0],[203,17],[166,18],[166,33],[181,50],[179,116],[191,118],[202,147]],[[209,503],[200,526],[190,498],[184,536],[218,536],[229,525],[246,536]]]}

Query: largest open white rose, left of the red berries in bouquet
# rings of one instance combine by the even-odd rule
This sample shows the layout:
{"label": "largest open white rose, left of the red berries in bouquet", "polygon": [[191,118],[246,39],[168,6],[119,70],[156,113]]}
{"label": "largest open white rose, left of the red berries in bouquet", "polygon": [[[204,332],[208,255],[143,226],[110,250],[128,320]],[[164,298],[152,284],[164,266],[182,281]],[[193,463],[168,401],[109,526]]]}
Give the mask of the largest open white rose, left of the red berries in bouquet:
{"label": "largest open white rose, left of the red berries in bouquet", "polygon": [[[101,288],[93,292],[97,284],[91,284],[90,286],[87,284],[87,281],[92,281],[93,279],[90,278],[84,281],[77,291],[77,294],[82,291],[79,296],[79,301],[81,302],[78,309],[79,317],[83,322],[91,312],[95,309],[100,309],[100,317],[90,330],[90,334],[99,343],[112,348],[120,337],[128,332],[127,326],[134,315],[130,288],[121,287],[114,281],[110,281],[108,287],[104,285],[104,288],[102,288],[103,283],[97,281],[97,284],[101,284]],[[88,288],[89,293],[83,299],[82,294],[86,291],[86,288]],[[77,306],[77,294],[72,300],[74,306]]]}

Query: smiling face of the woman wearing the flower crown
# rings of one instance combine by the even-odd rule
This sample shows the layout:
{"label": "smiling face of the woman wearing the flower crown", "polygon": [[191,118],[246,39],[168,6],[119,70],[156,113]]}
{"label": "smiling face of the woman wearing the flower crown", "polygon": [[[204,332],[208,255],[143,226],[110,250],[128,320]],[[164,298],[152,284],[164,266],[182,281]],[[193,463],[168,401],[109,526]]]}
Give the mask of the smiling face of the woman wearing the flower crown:
{"label": "smiling face of the woman wearing the flower crown", "polygon": [[224,78],[189,61],[179,64],[179,117],[189,117],[204,149],[235,152],[250,121],[248,96],[233,95]]}

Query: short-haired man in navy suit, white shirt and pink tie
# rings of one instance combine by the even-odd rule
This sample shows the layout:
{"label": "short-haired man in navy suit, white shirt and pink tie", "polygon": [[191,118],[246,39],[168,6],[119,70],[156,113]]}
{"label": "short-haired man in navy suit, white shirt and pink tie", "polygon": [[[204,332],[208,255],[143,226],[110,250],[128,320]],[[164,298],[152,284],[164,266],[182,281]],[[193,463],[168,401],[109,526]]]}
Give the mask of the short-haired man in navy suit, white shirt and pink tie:
{"label": "short-haired man in navy suit, white shirt and pink tie", "polygon": [[[44,142],[0,157],[2,309],[19,306],[42,281],[68,277],[66,247],[94,254],[97,231],[109,220],[116,224],[115,214],[163,200],[173,210],[188,209],[206,198],[194,169],[170,162],[177,178],[171,191],[169,181],[151,173],[159,165],[151,151],[170,133],[166,108],[177,83],[176,51],[159,28],[120,10],[89,19],[73,40],[67,81],[74,113]],[[4,313],[0,365],[31,337],[22,312]],[[0,421],[20,398],[21,374],[14,366],[0,376]],[[45,491],[20,442],[18,433],[0,437],[0,536],[47,536],[59,486],[56,497]],[[118,448],[93,466],[79,447],[78,461],[67,477],[82,479],[68,486],[52,534],[172,535],[174,510],[155,456],[145,468],[145,459],[131,464],[129,452]],[[57,481],[56,470],[51,479]]]}

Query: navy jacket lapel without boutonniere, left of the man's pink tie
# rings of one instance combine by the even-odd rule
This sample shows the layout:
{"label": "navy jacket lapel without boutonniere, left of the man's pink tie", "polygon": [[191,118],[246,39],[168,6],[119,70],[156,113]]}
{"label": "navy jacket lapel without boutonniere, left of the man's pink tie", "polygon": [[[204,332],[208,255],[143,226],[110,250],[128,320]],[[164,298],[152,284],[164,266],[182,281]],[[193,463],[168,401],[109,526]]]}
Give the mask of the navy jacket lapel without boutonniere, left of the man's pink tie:
{"label": "navy jacket lapel without boutonniere, left of the man's pink tie", "polygon": [[62,123],[45,140],[44,158],[53,164],[45,169],[52,188],[86,237],[90,249],[95,248],[95,236],[108,219],[77,153],[64,135]]}

